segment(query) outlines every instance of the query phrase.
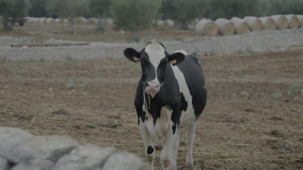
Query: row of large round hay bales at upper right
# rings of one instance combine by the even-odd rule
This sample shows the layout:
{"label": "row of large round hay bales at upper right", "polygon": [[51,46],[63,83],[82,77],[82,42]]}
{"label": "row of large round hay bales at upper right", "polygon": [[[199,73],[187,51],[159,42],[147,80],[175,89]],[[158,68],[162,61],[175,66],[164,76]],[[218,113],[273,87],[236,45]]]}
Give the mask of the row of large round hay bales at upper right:
{"label": "row of large round hay bales at upper right", "polygon": [[272,15],[264,17],[233,17],[230,20],[218,18],[213,22],[202,19],[196,25],[196,32],[205,36],[243,34],[250,31],[303,28],[303,15]]}

